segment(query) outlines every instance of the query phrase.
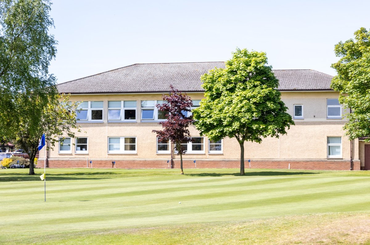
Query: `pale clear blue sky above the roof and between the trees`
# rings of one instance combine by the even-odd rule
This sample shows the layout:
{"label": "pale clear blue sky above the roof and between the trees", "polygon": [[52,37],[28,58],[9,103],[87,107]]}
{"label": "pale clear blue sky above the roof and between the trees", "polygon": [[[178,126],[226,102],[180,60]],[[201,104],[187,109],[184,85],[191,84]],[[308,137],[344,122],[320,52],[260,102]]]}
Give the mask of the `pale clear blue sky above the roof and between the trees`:
{"label": "pale clear blue sky above the roof and between the trees", "polygon": [[370,28],[369,0],[54,0],[58,83],[135,63],[225,61],[265,51],[274,69],[335,75],[334,45]]}

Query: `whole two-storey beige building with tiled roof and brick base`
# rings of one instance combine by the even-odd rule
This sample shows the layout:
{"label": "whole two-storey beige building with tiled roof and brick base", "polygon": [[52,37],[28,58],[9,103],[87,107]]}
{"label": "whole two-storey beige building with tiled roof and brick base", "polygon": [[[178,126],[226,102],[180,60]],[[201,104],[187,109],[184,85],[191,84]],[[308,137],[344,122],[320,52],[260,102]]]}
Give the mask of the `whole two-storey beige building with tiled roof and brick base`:
{"label": "whole two-storey beige building with tiled roof and brick base", "polygon": [[[186,92],[196,107],[203,98],[200,76],[215,67],[225,64],[134,64],[58,84],[60,93],[71,94],[71,101],[83,101],[78,113],[82,132],[49,151],[48,166],[91,167],[92,161],[93,167],[101,168],[178,168],[179,157],[171,144],[158,142],[152,133],[161,129],[158,122],[163,120],[155,104],[172,84]],[[369,145],[344,135],[346,111],[338,102],[339,93],[330,89],[332,76],[314,70],[273,72],[296,125],[280,138],[246,142],[246,168],[249,159],[251,168],[364,168]],[[184,168],[239,167],[240,147],[234,138],[213,142],[201,137],[194,126],[189,130],[193,142],[187,144]]]}

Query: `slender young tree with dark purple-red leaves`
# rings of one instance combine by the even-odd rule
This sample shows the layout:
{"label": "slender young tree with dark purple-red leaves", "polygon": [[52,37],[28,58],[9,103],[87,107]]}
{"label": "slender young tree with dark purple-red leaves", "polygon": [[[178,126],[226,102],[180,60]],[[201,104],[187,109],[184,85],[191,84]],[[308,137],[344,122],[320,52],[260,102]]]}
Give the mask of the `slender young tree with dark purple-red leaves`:
{"label": "slender young tree with dark purple-red leaves", "polygon": [[172,85],[170,96],[162,95],[164,103],[157,104],[157,108],[167,115],[167,120],[159,122],[163,130],[153,130],[157,133],[158,141],[171,141],[175,144],[177,154],[180,155],[181,174],[184,174],[182,169],[182,155],[186,150],[182,144],[188,143],[192,140],[188,130],[189,124],[193,123],[192,116],[187,117],[187,111],[190,111],[193,103],[191,98],[179,92]]}

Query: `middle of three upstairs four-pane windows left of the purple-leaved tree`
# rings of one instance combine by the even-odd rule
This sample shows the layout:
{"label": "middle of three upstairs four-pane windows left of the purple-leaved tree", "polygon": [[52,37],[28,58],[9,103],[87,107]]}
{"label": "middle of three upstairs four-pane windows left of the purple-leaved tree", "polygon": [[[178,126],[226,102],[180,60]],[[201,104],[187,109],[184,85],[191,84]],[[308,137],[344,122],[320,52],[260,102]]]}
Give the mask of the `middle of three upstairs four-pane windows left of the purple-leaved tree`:
{"label": "middle of three upstairs four-pane windows left of the purple-leaved tree", "polygon": [[108,120],[136,120],[136,101],[108,101]]}

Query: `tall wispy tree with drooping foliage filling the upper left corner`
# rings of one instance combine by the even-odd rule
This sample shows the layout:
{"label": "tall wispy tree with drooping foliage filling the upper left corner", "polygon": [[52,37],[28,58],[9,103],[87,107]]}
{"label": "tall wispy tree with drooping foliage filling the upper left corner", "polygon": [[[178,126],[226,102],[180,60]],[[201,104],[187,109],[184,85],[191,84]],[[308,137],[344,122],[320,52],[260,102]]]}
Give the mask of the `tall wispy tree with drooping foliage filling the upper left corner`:
{"label": "tall wispy tree with drooping foliage filling the upper left corner", "polygon": [[[48,75],[56,41],[49,0],[0,0],[0,135],[12,135],[20,93],[37,90],[39,98],[56,93],[55,78]],[[33,93],[35,94],[35,93]],[[19,101],[17,101],[19,102]]]}

